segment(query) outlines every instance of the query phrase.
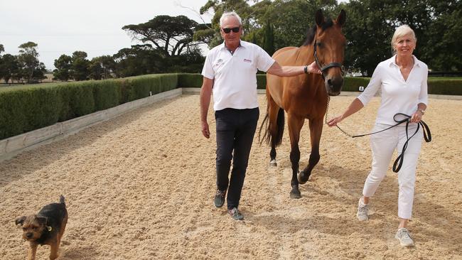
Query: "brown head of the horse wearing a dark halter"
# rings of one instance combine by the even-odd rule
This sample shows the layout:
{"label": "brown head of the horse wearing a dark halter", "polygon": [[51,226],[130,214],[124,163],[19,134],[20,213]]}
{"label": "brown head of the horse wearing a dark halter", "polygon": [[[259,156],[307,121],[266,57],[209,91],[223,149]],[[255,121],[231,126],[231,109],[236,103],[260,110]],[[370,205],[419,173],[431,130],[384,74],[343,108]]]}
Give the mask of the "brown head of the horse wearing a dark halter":
{"label": "brown head of the horse wearing a dark halter", "polygon": [[321,9],[316,12],[314,29],[314,59],[323,73],[326,91],[330,96],[340,94],[343,86],[343,57],[346,39],[342,33],[345,24],[345,11],[338,18],[325,19]]}

